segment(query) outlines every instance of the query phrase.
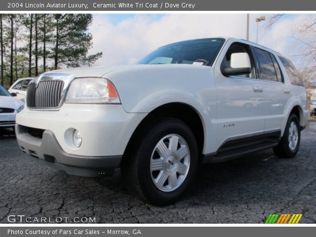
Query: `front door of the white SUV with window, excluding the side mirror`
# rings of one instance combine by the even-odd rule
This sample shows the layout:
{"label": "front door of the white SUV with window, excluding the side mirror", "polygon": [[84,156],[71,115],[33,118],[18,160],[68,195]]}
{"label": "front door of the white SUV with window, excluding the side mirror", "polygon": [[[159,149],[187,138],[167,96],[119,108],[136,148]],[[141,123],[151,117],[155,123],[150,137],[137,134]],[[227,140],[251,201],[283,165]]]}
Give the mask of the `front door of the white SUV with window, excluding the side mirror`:
{"label": "front door of the white SUV with window, excluding the side mirror", "polygon": [[[216,65],[215,83],[217,95],[217,146],[226,141],[260,135],[264,132],[266,98],[265,83],[257,79],[257,72],[250,47],[241,42],[228,43],[223,48]],[[251,73],[226,77],[220,67],[224,63],[230,66],[232,53],[248,53]]]}

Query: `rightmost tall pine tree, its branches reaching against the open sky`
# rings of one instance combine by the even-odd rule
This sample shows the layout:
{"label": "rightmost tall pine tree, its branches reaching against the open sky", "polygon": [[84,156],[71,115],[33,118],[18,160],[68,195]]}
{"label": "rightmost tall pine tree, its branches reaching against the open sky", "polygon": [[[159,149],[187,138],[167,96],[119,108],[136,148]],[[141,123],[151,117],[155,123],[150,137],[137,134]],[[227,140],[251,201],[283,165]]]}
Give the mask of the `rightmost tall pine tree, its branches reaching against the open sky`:
{"label": "rightmost tall pine tree, its branches reaching against the open sky", "polygon": [[54,69],[91,66],[102,52],[87,55],[92,47],[92,35],[87,32],[91,14],[53,14],[54,45],[50,57]]}

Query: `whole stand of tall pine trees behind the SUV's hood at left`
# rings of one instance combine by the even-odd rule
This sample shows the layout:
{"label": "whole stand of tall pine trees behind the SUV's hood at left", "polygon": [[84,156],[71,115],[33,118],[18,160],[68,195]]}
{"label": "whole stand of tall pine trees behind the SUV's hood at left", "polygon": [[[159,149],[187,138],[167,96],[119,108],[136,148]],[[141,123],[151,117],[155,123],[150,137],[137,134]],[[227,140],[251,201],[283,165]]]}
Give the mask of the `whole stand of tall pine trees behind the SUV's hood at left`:
{"label": "whole stand of tall pine trees behind the SUV's hood at left", "polygon": [[0,14],[1,84],[67,67],[91,66],[91,14]]}

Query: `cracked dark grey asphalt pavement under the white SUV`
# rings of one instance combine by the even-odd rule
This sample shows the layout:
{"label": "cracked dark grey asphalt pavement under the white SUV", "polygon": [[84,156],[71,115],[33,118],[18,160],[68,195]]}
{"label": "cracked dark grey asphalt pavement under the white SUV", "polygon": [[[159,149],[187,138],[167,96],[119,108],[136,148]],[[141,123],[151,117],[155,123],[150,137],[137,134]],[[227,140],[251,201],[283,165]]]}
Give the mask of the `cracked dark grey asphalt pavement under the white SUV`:
{"label": "cracked dark grey asphalt pavement under the white SUV", "polygon": [[113,177],[82,178],[34,163],[10,129],[0,129],[0,223],[8,215],[95,217],[96,223],[264,223],[270,213],[303,213],[316,223],[316,122],[302,132],[295,158],[272,150],[200,167],[177,203],[148,205]]}

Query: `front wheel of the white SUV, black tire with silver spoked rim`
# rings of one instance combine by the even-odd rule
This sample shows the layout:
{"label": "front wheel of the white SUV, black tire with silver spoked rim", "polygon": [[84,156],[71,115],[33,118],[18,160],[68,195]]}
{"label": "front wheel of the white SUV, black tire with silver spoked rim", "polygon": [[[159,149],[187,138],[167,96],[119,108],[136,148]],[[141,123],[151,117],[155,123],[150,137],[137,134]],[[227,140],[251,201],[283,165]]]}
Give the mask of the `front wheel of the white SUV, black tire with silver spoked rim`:
{"label": "front wheel of the white SUV, black tire with silver spoked rim", "polygon": [[179,119],[160,119],[136,146],[121,167],[127,188],[155,205],[182,197],[197,172],[197,142],[190,127]]}

